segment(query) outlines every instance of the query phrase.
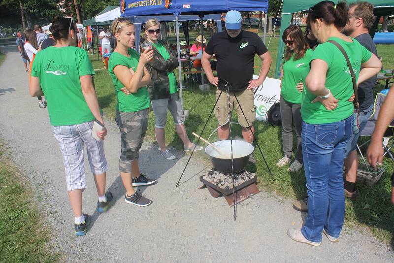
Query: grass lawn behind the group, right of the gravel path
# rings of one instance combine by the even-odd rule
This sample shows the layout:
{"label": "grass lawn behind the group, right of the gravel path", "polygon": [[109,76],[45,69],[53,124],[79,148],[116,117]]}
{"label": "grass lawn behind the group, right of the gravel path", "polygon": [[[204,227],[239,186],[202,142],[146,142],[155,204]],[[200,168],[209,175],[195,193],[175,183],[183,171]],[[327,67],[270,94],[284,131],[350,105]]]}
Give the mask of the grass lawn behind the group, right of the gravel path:
{"label": "grass lawn behind the group, right of the gravel path", "polygon": [[[259,33],[260,34],[260,33]],[[191,32],[190,39],[194,39],[197,32]],[[207,37],[209,39],[209,37]],[[269,34],[267,43],[269,41]],[[279,38],[272,38],[268,50],[273,57],[273,63],[268,76],[273,77],[276,64],[276,54]],[[170,36],[170,42],[175,42],[175,37]],[[384,68],[394,68],[394,56],[392,54],[393,45],[377,45],[378,53],[383,57]],[[111,119],[114,119],[115,112],[115,96],[113,92],[113,84],[107,70],[101,69],[103,64],[99,61],[97,54],[90,55],[96,72],[95,83],[99,97],[100,106],[104,113]],[[255,58],[255,65],[261,66],[258,57]],[[255,69],[255,74],[259,73],[259,68]],[[176,72],[178,77],[178,72]],[[184,108],[190,110],[189,119],[185,121],[186,131],[189,138],[195,140],[192,132],[200,133],[205,124],[210,110],[215,102],[215,89],[211,86],[209,92],[200,92],[198,86],[192,86],[183,91]],[[376,90],[383,89],[383,82],[376,86]],[[168,125],[165,127],[166,143],[170,147],[181,149],[182,143],[178,138],[172,123],[172,117],[168,114]],[[152,139],[154,135],[155,117],[153,112],[149,116],[148,136]],[[208,138],[210,132],[217,127],[217,120],[211,117],[202,137]],[[241,134],[241,128],[234,125],[234,134]],[[287,168],[277,168],[275,166],[278,159],[282,155],[281,145],[281,128],[271,127],[266,123],[257,121],[255,123],[258,142],[262,148],[264,157],[273,173],[270,176],[263,162],[262,156],[258,149],[255,151],[257,160],[256,166],[248,167],[251,171],[257,171],[259,187],[274,192],[283,197],[301,198],[306,196],[305,174],[303,170],[298,173],[289,173]],[[212,135],[210,141],[215,141],[217,134]],[[195,140],[196,141],[196,140]],[[296,145],[294,146],[296,147]],[[362,184],[357,185],[359,196],[356,201],[346,200],[346,221],[345,224],[350,227],[358,227],[360,225],[368,227],[371,232],[380,240],[390,242],[394,240],[394,206],[390,203],[389,197],[391,193],[390,176],[393,172],[394,162],[385,158],[387,171],[382,179],[374,186],[368,187]],[[393,243],[393,241],[392,241]],[[393,245],[394,247],[394,245]]]}

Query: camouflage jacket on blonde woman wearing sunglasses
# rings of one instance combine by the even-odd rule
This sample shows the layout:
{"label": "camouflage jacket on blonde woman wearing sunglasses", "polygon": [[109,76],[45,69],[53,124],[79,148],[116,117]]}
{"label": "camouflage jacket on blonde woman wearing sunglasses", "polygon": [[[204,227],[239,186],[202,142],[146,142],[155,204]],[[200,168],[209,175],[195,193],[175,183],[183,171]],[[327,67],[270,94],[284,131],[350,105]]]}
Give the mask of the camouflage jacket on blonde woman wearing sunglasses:
{"label": "camouflage jacket on blonde woman wearing sunglasses", "polygon": [[[144,43],[147,41],[148,40],[145,40]],[[147,85],[150,99],[165,99],[170,97],[167,71],[172,72],[172,70],[178,66],[178,60],[175,54],[171,52],[168,45],[160,39],[158,41],[165,47],[168,54],[170,54],[170,58],[164,60],[159,51],[152,46],[153,61],[146,64],[146,68],[148,69],[152,79],[151,83]]]}

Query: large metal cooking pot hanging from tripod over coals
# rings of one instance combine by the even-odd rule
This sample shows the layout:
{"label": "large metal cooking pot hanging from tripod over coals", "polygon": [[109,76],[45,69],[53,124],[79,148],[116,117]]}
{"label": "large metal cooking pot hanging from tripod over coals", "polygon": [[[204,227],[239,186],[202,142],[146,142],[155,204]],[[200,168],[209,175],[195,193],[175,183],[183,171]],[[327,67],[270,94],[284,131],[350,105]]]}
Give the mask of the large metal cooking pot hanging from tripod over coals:
{"label": "large metal cooking pot hanging from tripod over coals", "polygon": [[[215,141],[212,143],[227,156],[231,156],[231,143],[230,140]],[[245,169],[248,164],[249,156],[253,153],[255,147],[246,141],[232,140],[232,156],[234,172],[239,172]],[[205,153],[209,156],[212,166],[217,171],[224,173],[231,173],[231,158],[223,156],[220,152],[216,151],[212,146],[205,147]]]}

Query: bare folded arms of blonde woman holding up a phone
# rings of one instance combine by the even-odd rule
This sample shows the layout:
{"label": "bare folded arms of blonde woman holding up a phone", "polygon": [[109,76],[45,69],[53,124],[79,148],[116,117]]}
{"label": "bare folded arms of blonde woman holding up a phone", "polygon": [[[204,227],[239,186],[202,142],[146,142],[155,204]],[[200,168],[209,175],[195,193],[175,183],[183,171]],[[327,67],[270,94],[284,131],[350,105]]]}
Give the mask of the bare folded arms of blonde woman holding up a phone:
{"label": "bare folded arms of blonde woman holding up a phone", "polygon": [[[134,74],[131,74],[130,69],[123,65],[115,66],[114,73],[128,91],[136,93],[140,87],[144,87],[150,82],[150,74],[146,70],[145,64],[152,59],[153,50],[145,50],[141,54]],[[143,76],[144,72],[145,76]]]}

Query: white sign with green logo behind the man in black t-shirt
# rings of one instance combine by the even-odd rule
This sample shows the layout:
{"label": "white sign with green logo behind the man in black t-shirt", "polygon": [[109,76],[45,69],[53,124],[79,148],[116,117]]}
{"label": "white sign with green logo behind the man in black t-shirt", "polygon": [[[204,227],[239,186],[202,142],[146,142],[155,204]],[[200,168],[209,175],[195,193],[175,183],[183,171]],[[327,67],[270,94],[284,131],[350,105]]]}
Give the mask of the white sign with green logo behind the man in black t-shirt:
{"label": "white sign with green logo behind the man in black t-shirt", "polygon": [[[259,76],[253,75],[253,79]],[[265,78],[263,84],[257,88],[255,93],[256,119],[259,121],[267,121],[267,111],[280,97],[280,79]]]}

